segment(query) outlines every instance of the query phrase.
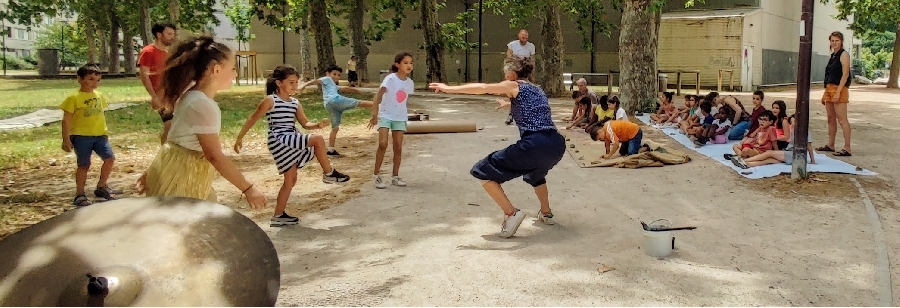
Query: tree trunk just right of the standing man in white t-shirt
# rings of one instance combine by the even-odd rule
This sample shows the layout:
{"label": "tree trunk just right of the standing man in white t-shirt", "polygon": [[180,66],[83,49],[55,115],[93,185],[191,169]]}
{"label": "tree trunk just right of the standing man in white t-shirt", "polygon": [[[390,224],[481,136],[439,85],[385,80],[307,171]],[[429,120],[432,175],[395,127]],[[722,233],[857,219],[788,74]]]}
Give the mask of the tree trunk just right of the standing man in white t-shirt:
{"label": "tree trunk just right of the standing man in white t-shirt", "polygon": [[[563,96],[563,36],[559,20],[559,2],[548,1],[542,18],[541,87],[548,97]],[[536,72],[535,72],[536,73]]]}

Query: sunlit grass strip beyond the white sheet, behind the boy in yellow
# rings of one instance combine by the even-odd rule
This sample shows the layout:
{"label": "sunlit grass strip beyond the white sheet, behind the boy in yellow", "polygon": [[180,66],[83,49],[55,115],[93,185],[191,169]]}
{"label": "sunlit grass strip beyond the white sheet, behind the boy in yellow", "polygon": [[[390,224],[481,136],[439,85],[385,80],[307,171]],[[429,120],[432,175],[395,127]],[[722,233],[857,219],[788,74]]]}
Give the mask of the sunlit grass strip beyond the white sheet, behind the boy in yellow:
{"label": "sunlit grass strip beyond the white sheet, behind the boy in yellow", "polygon": [[[0,79],[0,119],[39,109],[58,109],[69,94],[78,90],[75,79],[18,80]],[[100,92],[113,103],[146,103],[150,95],[137,78],[100,81]]]}

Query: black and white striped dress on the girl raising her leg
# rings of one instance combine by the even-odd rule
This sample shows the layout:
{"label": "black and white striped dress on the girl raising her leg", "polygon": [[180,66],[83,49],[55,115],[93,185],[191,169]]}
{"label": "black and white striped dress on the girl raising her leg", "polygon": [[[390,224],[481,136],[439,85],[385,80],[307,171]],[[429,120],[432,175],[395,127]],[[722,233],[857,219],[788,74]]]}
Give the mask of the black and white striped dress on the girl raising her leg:
{"label": "black and white striped dress on the girl raising her leg", "polygon": [[315,158],[313,149],[309,147],[308,134],[302,134],[294,123],[297,122],[297,107],[300,102],[291,98],[285,102],[278,95],[269,95],[275,103],[266,112],[269,121],[269,152],[275,159],[278,173],[288,171],[293,165],[302,168]]}

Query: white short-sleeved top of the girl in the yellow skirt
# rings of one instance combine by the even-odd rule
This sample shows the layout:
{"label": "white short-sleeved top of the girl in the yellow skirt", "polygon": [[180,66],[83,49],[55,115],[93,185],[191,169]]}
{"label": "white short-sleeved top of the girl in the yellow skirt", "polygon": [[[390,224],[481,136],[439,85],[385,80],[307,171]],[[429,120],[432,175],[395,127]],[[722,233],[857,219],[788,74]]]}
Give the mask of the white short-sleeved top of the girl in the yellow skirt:
{"label": "white short-sleeved top of the girl in the yellow skirt", "polygon": [[219,104],[200,91],[187,91],[172,113],[167,140],[194,151],[203,151],[198,134],[218,134],[222,129]]}

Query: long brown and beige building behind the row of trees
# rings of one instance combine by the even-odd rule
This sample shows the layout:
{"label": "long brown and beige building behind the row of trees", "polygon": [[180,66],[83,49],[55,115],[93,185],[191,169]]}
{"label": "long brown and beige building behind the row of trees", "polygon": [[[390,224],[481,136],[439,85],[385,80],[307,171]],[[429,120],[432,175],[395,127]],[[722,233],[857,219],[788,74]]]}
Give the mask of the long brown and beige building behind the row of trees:
{"label": "long brown and beige building behind the row of trees", "polygon": [[[721,0],[706,1],[705,4],[686,9],[682,2],[669,1],[663,10],[659,37],[660,70],[700,70],[700,83],[712,87],[717,83],[719,70],[732,70],[735,84],[742,90],[752,90],[758,86],[790,84],[796,81],[797,58],[799,55],[800,7],[801,0]],[[439,19],[452,22],[459,12],[473,7],[477,0],[448,1],[439,12]],[[621,14],[607,8],[597,18],[621,20]],[[845,48],[852,50],[853,33],[847,29],[847,22],[836,20],[837,10],[833,4],[816,1],[813,31],[812,80],[824,78],[825,63],[828,61],[828,34],[842,31]],[[613,29],[608,36],[595,33],[589,38],[595,46],[593,52],[583,48],[583,36],[578,31],[572,16],[562,14],[565,72],[608,72],[619,69],[619,32]],[[346,25],[343,20],[333,19]],[[420,46],[424,42],[422,32],[413,29],[419,21],[415,11],[407,13],[402,26],[388,33],[383,41],[372,42],[369,46],[370,80],[379,78],[379,71],[388,69],[392,56],[399,50],[411,51],[416,55],[417,67],[424,67],[425,53]],[[456,50],[445,55],[445,66],[449,81],[478,81],[479,70],[482,81],[496,81],[502,78],[501,64],[506,52],[506,44],[516,39],[517,29],[509,26],[509,17],[484,12],[479,27],[478,18],[468,21],[473,29],[464,39],[467,42],[482,43],[481,51]],[[537,47],[537,61],[540,62],[542,38],[540,21],[532,20],[525,27],[530,33],[530,41]],[[275,30],[254,21],[253,33],[256,39],[250,43],[251,49],[259,54],[259,70],[272,69],[286,62],[299,66],[299,36]],[[310,37],[310,44],[314,40]],[[315,53],[314,46],[310,47]],[[349,46],[335,46],[335,58],[343,66],[350,58]],[[310,57],[315,61],[315,56]],[[540,72],[538,72],[540,74]],[[413,72],[415,80],[425,80],[421,69]],[[693,84],[685,78],[684,84]],[[670,78],[674,83],[674,78]],[[600,81],[603,81],[600,79]],[[616,82],[617,83],[617,82]]]}

